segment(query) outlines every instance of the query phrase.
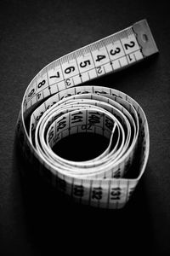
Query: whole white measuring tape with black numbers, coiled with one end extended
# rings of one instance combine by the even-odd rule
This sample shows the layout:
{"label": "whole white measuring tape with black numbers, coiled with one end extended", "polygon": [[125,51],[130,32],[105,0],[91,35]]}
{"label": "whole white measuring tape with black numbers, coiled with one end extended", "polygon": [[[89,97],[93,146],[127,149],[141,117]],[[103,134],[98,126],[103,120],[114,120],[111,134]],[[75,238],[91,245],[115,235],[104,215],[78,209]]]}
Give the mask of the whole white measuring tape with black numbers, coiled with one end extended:
{"label": "whole white measuring tape with black numbers, coiled with one end extended", "polygon": [[[123,207],[144,172],[150,145],[144,111],[130,96],[108,87],[75,85],[157,51],[147,21],[141,20],[53,61],[27,87],[16,129],[20,147],[42,176],[75,201]],[[109,138],[103,154],[86,161],[54,154],[63,137],[87,132]],[[138,175],[129,178],[133,168]]]}

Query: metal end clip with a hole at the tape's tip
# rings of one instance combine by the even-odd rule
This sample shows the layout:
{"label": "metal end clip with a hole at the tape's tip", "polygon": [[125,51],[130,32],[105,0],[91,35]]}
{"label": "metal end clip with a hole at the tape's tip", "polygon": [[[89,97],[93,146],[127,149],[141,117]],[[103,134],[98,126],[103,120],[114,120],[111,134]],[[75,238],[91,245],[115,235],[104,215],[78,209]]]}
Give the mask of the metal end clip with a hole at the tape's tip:
{"label": "metal end clip with a hole at the tape's tip", "polygon": [[142,47],[144,56],[149,56],[157,53],[156,42],[150,32],[150,27],[147,20],[140,20],[133,25],[133,31],[137,34],[138,42]]}

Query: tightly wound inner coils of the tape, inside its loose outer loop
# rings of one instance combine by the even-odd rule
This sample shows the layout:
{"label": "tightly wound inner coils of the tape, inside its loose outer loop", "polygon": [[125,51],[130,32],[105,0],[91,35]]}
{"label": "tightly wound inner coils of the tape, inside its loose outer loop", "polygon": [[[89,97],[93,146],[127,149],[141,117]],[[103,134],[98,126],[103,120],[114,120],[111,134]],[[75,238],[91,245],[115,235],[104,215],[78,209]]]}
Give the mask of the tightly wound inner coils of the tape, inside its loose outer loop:
{"label": "tightly wound inner coils of the tape, inside its loose outer loop", "polygon": [[[115,96],[113,97],[115,98]],[[52,99],[53,100],[53,99]],[[135,121],[126,108],[107,96],[83,94],[66,97],[43,113],[35,132],[35,147],[59,172],[71,177],[111,177],[121,161],[134,151],[139,133]],[[116,105],[116,106],[115,106]],[[120,111],[119,109],[122,109]],[[133,109],[133,107],[131,107]],[[126,116],[125,113],[128,113]],[[133,109],[133,113],[134,109]],[[34,115],[34,113],[32,113]],[[74,133],[91,132],[110,138],[104,154],[94,160],[75,162],[54,154],[54,144]],[[33,131],[30,133],[30,137]],[[89,145],[90,146],[90,145]],[[73,168],[73,170],[72,170]],[[123,168],[121,169],[121,175]]]}

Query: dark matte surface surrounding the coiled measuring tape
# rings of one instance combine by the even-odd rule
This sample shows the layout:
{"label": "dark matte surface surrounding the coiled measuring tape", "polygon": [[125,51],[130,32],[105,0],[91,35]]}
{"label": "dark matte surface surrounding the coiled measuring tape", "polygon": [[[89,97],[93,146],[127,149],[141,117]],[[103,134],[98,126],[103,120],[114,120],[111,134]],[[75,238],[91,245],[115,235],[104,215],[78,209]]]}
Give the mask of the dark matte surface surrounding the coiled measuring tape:
{"label": "dark matte surface surrounding the coiled measuring tape", "polygon": [[[0,4],[0,254],[167,255],[170,19],[166,2],[35,0]],[[149,122],[148,166],[127,207],[118,212],[78,207],[38,183],[32,174],[23,182],[20,170],[26,164],[17,156],[14,129],[27,84],[50,61],[144,18],[160,54],[88,83],[105,84],[132,96]]]}

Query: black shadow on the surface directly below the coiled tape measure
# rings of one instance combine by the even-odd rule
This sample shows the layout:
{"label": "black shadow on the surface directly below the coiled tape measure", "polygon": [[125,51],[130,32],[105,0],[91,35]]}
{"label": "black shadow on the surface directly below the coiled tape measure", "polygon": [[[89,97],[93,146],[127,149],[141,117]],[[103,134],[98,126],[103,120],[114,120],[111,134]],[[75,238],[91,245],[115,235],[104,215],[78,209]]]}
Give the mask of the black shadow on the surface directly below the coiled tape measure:
{"label": "black shadow on the surface directly below the coiled tape measure", "polygon": [[[26,237],[41,255],[65,253],[69,247],[84,253],[150,252],[152,227],[145,195],[144,179],[128,204],[118,210],[78,205],[48,185],[37,171],[21,157],[15,143],[15,168],[20,175]],[[102,248],[101,248],[102,247]],[[77,251],[75,253],[80,253]]]}

